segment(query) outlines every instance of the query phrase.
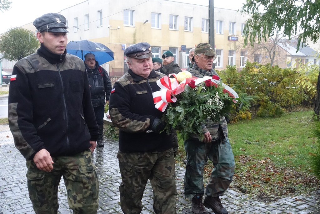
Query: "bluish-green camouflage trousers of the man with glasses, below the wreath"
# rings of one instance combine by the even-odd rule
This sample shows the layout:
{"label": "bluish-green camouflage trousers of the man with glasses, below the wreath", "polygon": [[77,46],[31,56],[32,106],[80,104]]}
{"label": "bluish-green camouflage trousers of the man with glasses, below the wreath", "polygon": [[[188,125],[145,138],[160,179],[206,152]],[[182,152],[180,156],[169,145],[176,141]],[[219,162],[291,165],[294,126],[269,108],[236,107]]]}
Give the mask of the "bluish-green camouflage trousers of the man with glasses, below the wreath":
{"label": "bluish-green camouflage trousers of the man with glasses, below the wreath", "polygon": [[218,197],[228,189],[235,172],[235,159],[231,150],[229,139],[220,138],[217,141],[204,143],[201,141],[184,142],[187,153],[186,174],[184,180],[184,194],[193,198],[195,194],[204,194],[204,161],[212,161],[212,170],[205,194]]}

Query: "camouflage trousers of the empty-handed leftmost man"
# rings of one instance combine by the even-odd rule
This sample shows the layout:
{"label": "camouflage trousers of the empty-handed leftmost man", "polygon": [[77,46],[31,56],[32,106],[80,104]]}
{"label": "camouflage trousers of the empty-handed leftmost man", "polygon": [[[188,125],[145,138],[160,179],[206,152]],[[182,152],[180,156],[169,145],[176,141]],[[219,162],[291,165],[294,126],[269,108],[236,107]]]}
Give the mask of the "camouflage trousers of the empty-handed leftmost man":
{"label": "camouflage trousers of the empty-handed leftmost man", "polygon": [[63,176],[68,204],[74,214],[92,214],[98,210],[99,183],[88,149],[74,156],[52,157],[51,172],[39,170],[27,160],[28,191],[36,214],[56,214],[59,208],[58,185]]}

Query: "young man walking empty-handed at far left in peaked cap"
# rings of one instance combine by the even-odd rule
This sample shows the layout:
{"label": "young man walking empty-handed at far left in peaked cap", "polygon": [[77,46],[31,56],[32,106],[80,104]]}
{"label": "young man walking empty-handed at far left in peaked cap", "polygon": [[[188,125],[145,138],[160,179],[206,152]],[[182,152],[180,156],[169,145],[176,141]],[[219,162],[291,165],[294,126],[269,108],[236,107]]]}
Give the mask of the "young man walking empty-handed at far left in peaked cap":
{"label": "young man walking empty-handed at far left in peaked cap", "polygon": [[99,136],[84,62],[67,54],[66,19],[48,13],[33,22],[41,46],[12,71],[8,120],[26,158],[37,214],[57,213],[63,176],[73,213],[97,213],[99,184],[91,153]]}

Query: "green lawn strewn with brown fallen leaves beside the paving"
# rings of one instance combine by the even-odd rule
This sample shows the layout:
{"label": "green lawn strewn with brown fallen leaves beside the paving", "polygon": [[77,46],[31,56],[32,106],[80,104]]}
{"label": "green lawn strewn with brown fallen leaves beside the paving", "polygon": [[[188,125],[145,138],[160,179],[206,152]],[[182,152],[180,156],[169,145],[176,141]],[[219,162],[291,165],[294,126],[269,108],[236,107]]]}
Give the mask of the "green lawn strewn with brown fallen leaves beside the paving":
{"label": "green lawn strewn with brown fallen leaves beside the paving", "polygon": [[[317,189],[320,182],[311,170],[317,140],[312,133],[315,126],[312,116],[312,111],[300,111],[280,118],[254,118],[228,124],[236,162],[230,188],[264,202]],[[184,159],[183,141],[179,140],[176,160]],[[204,168],[205,179],[212,168],[209,161]]]}

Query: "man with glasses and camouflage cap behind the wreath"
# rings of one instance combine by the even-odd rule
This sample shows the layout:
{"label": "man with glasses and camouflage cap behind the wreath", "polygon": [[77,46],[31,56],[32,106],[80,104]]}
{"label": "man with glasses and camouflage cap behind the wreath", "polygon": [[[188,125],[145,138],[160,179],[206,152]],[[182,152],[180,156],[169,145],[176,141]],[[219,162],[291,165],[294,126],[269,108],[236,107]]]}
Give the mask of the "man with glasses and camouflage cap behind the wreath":
{"label": "man with glasses and camouflage cap behind the wreath", "polygon": [[[189,70],[192,76],[202,78],[218,74],[212,69],[216,53],[209,43],[200,43],[195,48],[195,62]],[[186,174],[184,181],[185,196],[192,199],[192,211],[195,214],[206,214],[204,206],[211,208],[216,214],[228,214],[223,208],[219,196],[228,189],[235,171],[235,160],[228,139],[228,127],[225,117],[220,123],[208,120],[203,125],[204,141],[198,136],[190,136],[184,142],[187,154]],[[204,194],[203,173],[207,157],[213,162],[214,168]],[[199,170],[200,169],[200,170]]]}

